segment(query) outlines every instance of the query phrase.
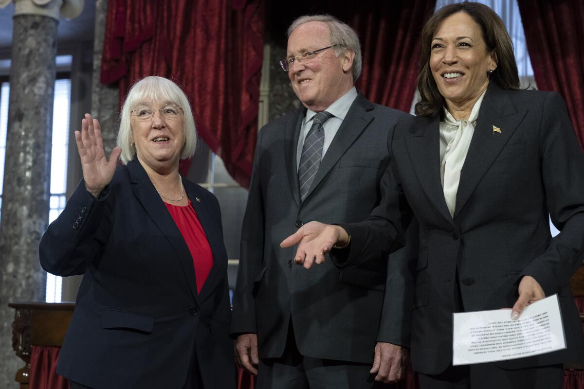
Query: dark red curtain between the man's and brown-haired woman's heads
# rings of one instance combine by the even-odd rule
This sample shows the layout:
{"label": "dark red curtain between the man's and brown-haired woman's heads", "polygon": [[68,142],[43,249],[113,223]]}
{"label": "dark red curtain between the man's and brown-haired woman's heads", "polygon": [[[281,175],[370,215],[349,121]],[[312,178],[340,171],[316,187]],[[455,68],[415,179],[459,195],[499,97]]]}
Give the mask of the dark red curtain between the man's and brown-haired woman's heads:
{"label": "dark red curtain between the man's and brown-haired woman's heads", "polygon": [[357,80],[374,103],[409,112],[416,91],[420,34],[436,1],[366,2],[347,22],[359,33],[363,72]]}

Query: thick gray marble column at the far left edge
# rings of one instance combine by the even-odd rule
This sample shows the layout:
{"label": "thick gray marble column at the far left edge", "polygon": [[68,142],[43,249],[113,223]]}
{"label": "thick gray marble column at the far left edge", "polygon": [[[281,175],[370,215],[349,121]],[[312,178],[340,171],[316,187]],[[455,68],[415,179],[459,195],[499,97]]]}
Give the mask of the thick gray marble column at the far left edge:
{"label": "thick gray marble column at the far left edge", "polygon": [[[62,8],[71,6],[71,2],[40,2],[45,4],[39,6],[32,0],[17,0],[13,17],[8,136],[0,219],[2,388],[16,387],[15,374],[22,367],[22,362],[12,351],[14,311],[6,304],[10,301],[44,301],[45,297],[46,274],[39,264],[39,241],[48,219],[57,24]],[[7,3],[3,0],[0,5]]]}

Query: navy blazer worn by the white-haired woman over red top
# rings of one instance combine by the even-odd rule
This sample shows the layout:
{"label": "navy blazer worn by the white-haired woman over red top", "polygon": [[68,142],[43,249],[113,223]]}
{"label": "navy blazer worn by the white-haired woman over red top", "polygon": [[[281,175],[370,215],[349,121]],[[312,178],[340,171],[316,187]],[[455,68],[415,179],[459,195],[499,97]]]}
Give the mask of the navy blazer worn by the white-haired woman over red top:
{"label": "navy blazer worn by the white-haired woman over red top", "polygon": [[213,251],[200,295],[189,248],[137,159],[99,199],[82,181],[48,226],[43,268],[84,274],[57,373],[96,389],[181,388],[196,350],[206,388],[235,386],[219,205],[183,184]]}

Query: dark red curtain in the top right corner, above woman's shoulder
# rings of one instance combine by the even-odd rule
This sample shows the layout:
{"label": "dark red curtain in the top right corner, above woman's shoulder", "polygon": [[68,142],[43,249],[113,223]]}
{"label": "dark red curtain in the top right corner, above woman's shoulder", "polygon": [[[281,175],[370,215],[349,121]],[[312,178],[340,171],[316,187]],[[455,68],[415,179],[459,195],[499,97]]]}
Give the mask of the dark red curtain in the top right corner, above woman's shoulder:
{"label": "dark red curtain in the top right corner, above woman's shoulder", "polygon": [[537,87],[564,97],[584,148],[584,2],[517,2]]}

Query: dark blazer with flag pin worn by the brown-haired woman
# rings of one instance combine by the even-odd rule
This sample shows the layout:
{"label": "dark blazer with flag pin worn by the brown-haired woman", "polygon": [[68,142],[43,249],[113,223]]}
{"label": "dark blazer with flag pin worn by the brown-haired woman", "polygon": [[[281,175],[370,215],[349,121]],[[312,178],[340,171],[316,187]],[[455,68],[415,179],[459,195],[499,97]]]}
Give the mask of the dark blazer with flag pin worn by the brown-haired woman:
{"label": "dark blazer with flag pin worn by the brown-haired woman", "polygon": [[[550,92],[489,85],[461,171],[454,218],[440,183],[439,116],[416,118],[390,139],[384,202],[352,236],[347,264],[389,251],[401,214],[420,223],[412,317],[412,366],[425,374],[451,362],[456,279],[465,311],[512,307],[531,275],[558,293],[568,348],[499,363],[543,366],[584,358],[569,278],[584,253],[584,155],[564,100]],[[500,132],[493,131],[493,126]],[[548,214],[561,233],[551,238]]]}

